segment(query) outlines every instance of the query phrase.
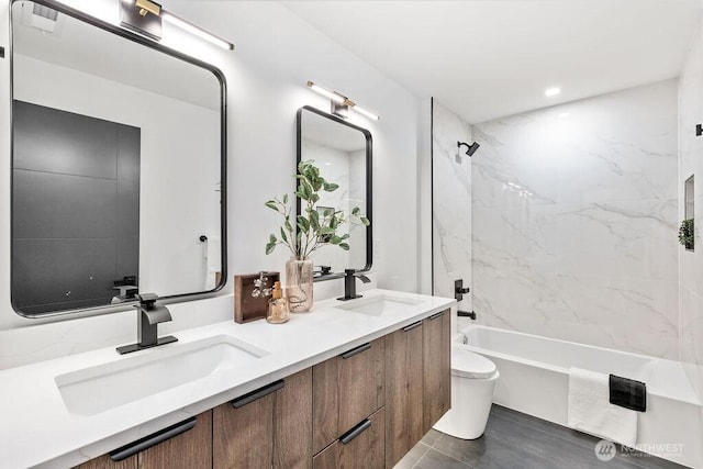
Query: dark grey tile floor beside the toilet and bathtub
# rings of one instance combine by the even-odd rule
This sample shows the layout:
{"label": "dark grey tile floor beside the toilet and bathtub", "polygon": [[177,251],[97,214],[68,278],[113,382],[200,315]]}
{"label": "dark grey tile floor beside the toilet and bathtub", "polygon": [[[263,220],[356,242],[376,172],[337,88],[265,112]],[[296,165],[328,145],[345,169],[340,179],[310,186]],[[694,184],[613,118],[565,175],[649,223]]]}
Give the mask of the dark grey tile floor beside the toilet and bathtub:
{"label": "dark grey tile floor beside the toilet and bathtub", "polygon": [[493,405],[479,439],[454,438],[434,429],[395,469],[674,469],[683,466],[641,453],[622,454],[610,461],[595,457],[600,438],[506,407]]}

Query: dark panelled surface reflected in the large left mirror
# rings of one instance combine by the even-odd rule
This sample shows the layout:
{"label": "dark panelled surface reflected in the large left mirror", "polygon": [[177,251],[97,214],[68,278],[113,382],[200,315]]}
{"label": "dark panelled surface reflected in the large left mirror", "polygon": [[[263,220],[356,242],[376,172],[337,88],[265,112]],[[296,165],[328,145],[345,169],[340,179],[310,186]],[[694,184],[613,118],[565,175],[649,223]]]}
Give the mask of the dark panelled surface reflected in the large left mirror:
{"label": "dark panelled surface reflected in the large left mirror", "polygon": [[109,304],[138,275],[140,129],[13,103],[12,302]]}

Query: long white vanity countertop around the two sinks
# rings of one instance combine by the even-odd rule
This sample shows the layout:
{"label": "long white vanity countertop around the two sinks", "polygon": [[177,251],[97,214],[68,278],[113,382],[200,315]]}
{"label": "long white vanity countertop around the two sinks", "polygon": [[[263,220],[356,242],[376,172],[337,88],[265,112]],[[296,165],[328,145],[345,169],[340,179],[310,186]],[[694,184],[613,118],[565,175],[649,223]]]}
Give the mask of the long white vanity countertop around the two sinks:
{"label": "long white vanity countertop around the two sinks", "polygon": [[[372,316],[334,308],[349,302],[325,300],[315,303],[309,313],[291,314],[286,324],[227,321],[176,333],[177,343],[134,354],[119,355],[110,347],[2,370],[1,465],[3,468],[76,466],[456,304],[454,299],[388,290],[365,291],[362,300],[379,295],[414,300],[419,304],[409,304],[402,313]],[[70,413],[55,381],[67,372],[136,355],[163,354],[169,347],[217,335],[244,340],[268,354],[232,372],[215,371],[93,415]]]}

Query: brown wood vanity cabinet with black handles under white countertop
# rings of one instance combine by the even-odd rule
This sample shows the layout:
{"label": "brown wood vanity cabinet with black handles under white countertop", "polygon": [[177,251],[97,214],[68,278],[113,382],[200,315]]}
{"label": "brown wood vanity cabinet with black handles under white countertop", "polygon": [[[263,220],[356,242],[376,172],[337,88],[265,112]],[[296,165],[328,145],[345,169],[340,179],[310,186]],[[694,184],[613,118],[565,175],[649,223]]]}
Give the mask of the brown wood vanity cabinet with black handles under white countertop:
{"label": "brown wood vanity cabinet with black handles under white countertop", "polygon": [[392,468],[449,409],[449,310],[434,314],[203,412],[120,462],[79,468]]}

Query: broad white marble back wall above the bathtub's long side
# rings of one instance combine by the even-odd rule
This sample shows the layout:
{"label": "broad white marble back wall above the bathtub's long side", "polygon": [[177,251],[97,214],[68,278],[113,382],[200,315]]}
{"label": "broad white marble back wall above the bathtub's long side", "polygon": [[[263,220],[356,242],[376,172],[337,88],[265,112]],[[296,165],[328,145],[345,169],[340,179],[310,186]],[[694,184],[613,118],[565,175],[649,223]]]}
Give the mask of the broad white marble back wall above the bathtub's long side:
{"label": "broad white marble back wall above the bathtub's long side", "polygon": [[483,324],[678,358],[677,89],[473,126]]}

